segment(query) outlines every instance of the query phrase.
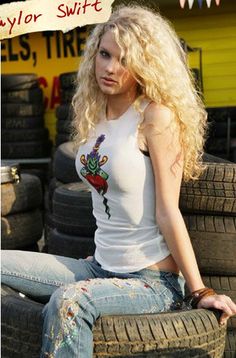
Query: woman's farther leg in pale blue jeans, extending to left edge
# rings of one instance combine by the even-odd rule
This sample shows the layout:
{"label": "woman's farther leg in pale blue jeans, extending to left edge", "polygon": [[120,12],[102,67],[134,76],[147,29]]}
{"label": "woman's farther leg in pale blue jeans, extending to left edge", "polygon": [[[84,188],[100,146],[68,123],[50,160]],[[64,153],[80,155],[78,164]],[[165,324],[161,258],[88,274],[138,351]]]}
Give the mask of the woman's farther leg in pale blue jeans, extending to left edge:
{"label": "woman's farther leg in pale blue jeans, extending to left edge", "polygon": [[101,275],[99,269],[83,259],[18,250],[1,252],[2,283],[42,302],[60,286]]}

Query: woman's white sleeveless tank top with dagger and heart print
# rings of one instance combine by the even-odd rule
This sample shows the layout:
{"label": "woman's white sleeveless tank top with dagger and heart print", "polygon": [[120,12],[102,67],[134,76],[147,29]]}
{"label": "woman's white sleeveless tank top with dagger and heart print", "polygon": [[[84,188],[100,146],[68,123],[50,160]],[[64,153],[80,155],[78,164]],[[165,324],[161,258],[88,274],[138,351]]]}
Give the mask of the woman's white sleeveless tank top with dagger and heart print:
{"label": "woman's white sleeveless tank top with dagger and heart print", "polygon": [[76,155],[78,175],[92,192],[95,258],[113,272],[135,272],[170,254],[156,223],[151,160],[138,147],[140,119],[133,105],[118,119],[101,119]]}

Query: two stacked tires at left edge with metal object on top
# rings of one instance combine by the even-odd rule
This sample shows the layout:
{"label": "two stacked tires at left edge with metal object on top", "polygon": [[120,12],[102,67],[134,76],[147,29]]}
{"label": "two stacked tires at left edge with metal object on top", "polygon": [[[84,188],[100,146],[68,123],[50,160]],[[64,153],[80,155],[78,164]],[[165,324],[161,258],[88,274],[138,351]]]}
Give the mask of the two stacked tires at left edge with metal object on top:
{"label": "two stacked tires at left edge with metal object on top", "polygon": [[43,233],[42,187],[37,176],[1,166],[1,247],[38,251]]}

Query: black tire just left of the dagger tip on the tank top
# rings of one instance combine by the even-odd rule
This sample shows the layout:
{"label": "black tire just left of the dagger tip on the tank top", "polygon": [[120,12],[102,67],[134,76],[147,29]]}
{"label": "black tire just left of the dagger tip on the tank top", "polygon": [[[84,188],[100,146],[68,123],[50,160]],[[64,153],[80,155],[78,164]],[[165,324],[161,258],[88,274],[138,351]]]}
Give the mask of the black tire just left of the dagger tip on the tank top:
{"label": "black tire just left of the dagger tip on the tank top", "polygon": [[96,220],[92,214],[92,198],[83,183],[60,186],[53,194],[53,220],[55,227],[70,235],[94,236]]}

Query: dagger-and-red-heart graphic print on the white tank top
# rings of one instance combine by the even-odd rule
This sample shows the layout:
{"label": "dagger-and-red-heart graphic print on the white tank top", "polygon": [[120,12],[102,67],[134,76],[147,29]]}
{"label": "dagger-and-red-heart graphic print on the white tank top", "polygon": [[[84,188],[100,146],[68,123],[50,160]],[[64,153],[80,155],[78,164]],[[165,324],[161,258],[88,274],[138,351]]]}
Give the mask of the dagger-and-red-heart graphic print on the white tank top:
{"label": "dagger-and-red-heart graphic print on the white tank top", "polygon": [[109,178],[109,175],[101,169],[101,166],[108,161],[108,157],[104,155],[100,160],[101,155],[98,153],[100,145],[104,140],[105,134],[101,134],[97,138],[93,150],[87,154],[86,158],[84,154],[80,156],[80,161],[84,165],[84,167],[81,168],[80,173],[97,190],[97,192],[103,196],[105,212],[108,215],[108,219],[110,219],[110,208],[107,204],[107,198],[104,196],[108,189],[107,179]]}

